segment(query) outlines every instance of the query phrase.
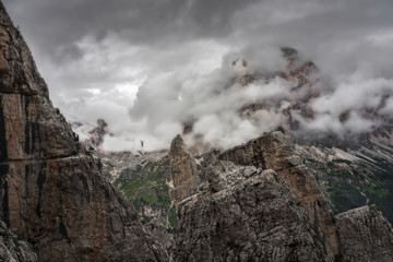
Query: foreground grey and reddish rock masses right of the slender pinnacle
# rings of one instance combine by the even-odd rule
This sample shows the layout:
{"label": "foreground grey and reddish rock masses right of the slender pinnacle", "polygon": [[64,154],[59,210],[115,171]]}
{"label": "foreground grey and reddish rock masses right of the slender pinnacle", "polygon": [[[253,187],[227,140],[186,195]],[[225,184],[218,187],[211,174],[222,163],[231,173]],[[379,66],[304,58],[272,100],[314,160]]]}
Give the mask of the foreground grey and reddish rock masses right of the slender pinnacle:
{"label": "foreground grey and reddish rock masses right of the slender pinnacle", "polygon": [[281,132],[218,156],[189,156],[200,180],[198,191],[178,204],[176,261],[391,259],[393,233],[382,214],[365,206],[334,217]]}

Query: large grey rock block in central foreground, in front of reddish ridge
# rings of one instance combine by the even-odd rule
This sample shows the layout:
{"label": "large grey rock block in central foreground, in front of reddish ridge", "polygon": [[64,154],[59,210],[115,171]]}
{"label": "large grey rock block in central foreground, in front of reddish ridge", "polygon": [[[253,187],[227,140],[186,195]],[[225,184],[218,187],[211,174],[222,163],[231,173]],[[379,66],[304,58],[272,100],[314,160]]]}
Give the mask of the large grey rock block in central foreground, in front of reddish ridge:
{"label": "large grey rock block in central foreground, in front of reddish ridge", "polygon": [[213,179],[221,180],[219,191],[179,205],[176,261],[334,261],[275,171],[230,163],[217,168],[226,169]]}

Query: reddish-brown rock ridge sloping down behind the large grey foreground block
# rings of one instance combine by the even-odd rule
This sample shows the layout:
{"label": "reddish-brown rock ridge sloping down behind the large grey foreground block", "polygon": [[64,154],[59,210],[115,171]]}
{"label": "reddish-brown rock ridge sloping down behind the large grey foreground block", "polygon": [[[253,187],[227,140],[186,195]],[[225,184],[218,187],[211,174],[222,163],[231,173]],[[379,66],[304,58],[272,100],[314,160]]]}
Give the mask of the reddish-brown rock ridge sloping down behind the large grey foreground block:
{"label": "reddish-brown rock ridge sloping down behind the large grey foreground block", "polygon": [[333,253],[340,254],[340,239],[333,213],[315,179],[307,171],[294,145],[282,132],[267,133],[245,145],[228,150],[218,155],[218,159],[275,170],[317,222]]}

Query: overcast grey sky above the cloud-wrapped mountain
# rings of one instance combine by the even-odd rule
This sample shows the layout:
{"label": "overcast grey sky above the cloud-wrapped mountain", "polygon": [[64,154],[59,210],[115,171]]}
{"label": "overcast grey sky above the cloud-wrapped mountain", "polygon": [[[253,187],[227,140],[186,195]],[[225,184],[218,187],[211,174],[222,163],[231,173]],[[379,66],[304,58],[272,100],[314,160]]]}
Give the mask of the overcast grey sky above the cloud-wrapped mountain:
{"label": "overcast grey sky above the cloud-wrapped mountain", "polygon": [[[104,118],[115,134],[128,141],[139,142],[146,130],[135,128],[143,119],[133,119],[141,85],[146,86],[145,93],[154,90],[163,96],[174,81],[211,75],[228,57],[245,50],[274,68],[279,61],[272,48],[290,46],[314,61],[337,86],[376,80],[386,81],[383,88],[392,86],[392,0],[3,3],[33,51],[53,105],[69,120],[74,120],[70,115],[91,123]],[[154,97],[147,102],[153,108],[157,103]],[[393,103],[389,106],[393,108]],[[169,126],[163,129],[178,131]],[[116,146],[130,144],[118,141]]]}

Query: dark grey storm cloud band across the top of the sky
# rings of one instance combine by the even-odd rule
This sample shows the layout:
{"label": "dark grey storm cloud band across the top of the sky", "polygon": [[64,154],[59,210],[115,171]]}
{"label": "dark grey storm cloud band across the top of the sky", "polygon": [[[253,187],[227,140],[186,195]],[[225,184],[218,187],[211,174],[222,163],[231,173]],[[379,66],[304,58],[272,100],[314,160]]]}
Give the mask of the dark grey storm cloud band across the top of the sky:
{"label": "dark grey storm cloud band across the top of the sky", "polygon": [[[130,45],[174,48],[200,38],[294,46],[308,56],[330,43],[391,29],[390,0],[4,0],[32,48],[56,62],[83,55],[75,45],[115,33]],[[345,43],[346,45],[347,43]],[[318,58],[315,58],[318,59]],[[347,59],[352,60],[352,59]],[[346,62],[345,67],[349,67]]]}

